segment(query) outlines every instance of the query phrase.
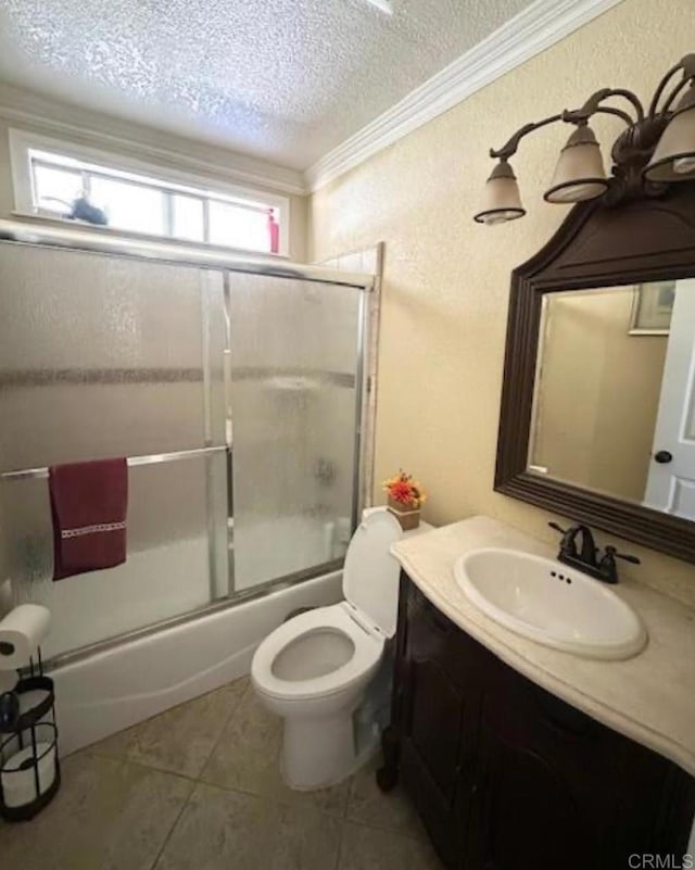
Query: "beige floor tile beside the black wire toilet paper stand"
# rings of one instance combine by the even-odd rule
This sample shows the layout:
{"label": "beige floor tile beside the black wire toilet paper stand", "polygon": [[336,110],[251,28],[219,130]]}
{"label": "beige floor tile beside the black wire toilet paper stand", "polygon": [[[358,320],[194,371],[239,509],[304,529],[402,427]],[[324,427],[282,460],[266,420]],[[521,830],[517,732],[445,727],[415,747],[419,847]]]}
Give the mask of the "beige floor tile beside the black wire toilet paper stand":
{"label": "beige floor tile beside the black wire toilet paper stand", "polygon": [[63,762],[53,802],[0,827],[3,870],[150,870],[193,784],[113,758]]}

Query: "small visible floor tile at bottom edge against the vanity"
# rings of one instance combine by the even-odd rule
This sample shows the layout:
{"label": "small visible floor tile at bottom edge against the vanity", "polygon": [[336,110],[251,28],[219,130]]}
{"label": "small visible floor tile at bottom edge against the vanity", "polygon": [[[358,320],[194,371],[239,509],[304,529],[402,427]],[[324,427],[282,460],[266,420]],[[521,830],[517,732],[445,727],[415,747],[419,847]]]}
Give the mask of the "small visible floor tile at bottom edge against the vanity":
{"label": "small visible floor tile at bottom edge against the vanity", "polygon": [[338,870],[443,870],[424,837],[346,822]]}

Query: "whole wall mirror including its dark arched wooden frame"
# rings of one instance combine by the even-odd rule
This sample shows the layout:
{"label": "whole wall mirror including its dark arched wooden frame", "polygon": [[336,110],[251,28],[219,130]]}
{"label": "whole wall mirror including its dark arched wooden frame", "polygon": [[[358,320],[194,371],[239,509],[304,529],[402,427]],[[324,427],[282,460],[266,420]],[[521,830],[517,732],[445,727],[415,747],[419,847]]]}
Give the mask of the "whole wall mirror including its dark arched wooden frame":
{"label": "whole wall mirror including its dark arched wooden frame", "polygon": [[514,270],[494,487],[695,563],[695,184],[580,203]]}

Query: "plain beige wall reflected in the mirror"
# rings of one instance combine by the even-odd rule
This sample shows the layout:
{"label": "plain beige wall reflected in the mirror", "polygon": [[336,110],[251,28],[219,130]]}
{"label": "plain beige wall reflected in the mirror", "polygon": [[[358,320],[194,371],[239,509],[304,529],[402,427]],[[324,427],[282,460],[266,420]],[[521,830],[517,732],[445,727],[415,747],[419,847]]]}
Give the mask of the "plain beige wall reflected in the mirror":
{"label": "plain beige wall reflected in the mirror", "polygon": [[631,336],[634,288],[546,297],[534,465],[641,502],[652,465],[666,336]]}

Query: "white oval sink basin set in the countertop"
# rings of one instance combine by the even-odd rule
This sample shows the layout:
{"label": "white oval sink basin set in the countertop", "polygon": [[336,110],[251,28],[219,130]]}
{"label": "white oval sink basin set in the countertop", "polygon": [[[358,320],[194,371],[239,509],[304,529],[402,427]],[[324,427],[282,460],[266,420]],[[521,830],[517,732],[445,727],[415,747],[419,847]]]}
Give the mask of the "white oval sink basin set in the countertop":
{"label": "white oval sink basin set in the countertop", "polygon": [[517,550],[473,550],[456,582],[483,614],[544,646],[586,658],[631,658],[647,642],[640,617],[612,590],[559,562]]}

